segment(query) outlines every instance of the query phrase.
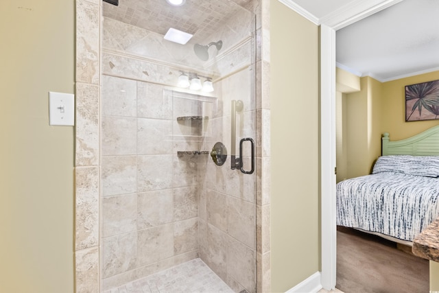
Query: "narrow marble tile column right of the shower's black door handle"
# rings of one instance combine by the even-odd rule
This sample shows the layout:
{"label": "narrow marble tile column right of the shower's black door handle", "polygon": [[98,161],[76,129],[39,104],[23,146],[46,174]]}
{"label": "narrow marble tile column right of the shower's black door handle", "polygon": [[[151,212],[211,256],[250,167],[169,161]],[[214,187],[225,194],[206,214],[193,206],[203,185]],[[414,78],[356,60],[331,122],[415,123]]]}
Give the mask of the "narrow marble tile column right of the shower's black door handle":
{"label": "narrow marble tile column right of the shower's black door handle", "polygon": [[255,0],[257,15],[257,292],[271,292],[270,270],[270,0]]}

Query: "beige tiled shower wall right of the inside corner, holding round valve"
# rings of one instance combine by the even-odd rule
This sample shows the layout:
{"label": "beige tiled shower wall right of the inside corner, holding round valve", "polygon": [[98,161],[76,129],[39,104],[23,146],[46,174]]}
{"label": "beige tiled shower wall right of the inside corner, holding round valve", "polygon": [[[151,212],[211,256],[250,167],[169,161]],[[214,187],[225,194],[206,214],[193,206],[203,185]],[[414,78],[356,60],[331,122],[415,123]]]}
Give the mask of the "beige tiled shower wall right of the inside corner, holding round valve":
{"label": "beige tiled shower wall right of the inside corner, holding round valve", "polygon": [[[244,109],[237,113],[237,148],[239,138],[254,138],[256,101],[251,84],[252,71],[249,69],[215,84],[222,97],[222,115],[214,119],[212,136],[204,141],[204,149],[210,150],[216,141],[222,141],[227,147],[230,145],[232,99],[240,99],[244,104]],[[244,150],[250,150],[250,145]],[[245,159],[244,167],[250,169],[249,156]],[[200,257],[235,292],[256,290],[255,180],[256,174],[231,169],[230,156],[220,167],[210,158],[200,162]]]}

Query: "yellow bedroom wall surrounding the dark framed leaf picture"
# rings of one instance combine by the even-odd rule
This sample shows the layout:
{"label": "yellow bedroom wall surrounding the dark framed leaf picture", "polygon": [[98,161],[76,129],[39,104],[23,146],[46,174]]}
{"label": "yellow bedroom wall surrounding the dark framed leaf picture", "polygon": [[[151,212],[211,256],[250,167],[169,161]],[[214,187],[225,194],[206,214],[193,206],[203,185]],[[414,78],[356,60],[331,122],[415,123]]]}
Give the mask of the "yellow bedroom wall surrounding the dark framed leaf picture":
{"label": "yellow bedroom wall surrounding the dark framed leaf picture", "polygon": [[405,121],[405,86],[431,80],[439,80],[439,71],[383,82],[381,132],[389,132],[391,140],[399,140],[439,125],[439,120]]}

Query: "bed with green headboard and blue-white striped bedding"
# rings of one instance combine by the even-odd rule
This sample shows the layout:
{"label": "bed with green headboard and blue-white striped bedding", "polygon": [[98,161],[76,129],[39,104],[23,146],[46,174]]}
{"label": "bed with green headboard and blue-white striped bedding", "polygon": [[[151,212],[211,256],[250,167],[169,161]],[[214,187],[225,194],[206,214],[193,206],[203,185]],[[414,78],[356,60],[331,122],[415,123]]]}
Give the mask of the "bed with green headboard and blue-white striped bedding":
{"label": "bed with green headboard and blue-white striped bedding", "polygon": [[439,126],[401,141],[385,133],[372,174],[336,190],[338,226],[411,246],[439,217]]}

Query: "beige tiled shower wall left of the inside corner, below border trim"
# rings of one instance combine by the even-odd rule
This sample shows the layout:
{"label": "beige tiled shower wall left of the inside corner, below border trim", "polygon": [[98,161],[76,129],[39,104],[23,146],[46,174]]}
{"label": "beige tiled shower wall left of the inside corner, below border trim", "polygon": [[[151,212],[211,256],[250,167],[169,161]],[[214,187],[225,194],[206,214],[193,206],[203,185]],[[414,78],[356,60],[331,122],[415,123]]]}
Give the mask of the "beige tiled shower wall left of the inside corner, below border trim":
{"label": "beige tiled shower wall left of the inside corner, below border trim", "polygon": [[194,103],[102,76],[104,290],[198,257],[197,158],[180,159],[172,135],[173,105]]}

